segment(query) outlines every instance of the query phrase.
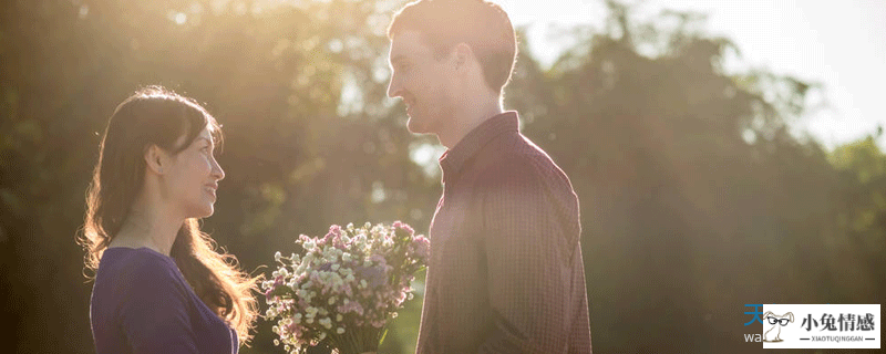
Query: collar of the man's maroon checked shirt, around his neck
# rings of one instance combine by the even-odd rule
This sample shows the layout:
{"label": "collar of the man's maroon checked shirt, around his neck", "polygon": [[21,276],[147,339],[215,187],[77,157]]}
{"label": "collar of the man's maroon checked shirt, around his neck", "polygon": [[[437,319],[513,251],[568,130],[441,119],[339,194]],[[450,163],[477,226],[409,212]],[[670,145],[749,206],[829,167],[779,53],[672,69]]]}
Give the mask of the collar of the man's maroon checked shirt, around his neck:
{"label": "collar of the man's maroon checked shirt, around his neck", "polygon": [[443,178],[455,176],[465,163],[476,155],[488,142],[502,133],[519,131],[519,117],[517,112],[507,111],[494,115],[481,123],[480,126],[467,133],[455,146],[446,150],[440,157],[440,167],[443,169]]}

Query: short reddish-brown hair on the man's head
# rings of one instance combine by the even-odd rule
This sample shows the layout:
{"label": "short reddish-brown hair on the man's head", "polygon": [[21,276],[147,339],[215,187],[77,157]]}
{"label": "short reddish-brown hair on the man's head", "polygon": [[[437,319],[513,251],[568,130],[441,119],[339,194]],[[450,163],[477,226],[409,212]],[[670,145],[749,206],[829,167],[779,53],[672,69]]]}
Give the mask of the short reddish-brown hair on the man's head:
{"label": "short reddish-brown hair on the man's head", "polygon": [[474,51],[486,85],[494,92],[511,80],[517,56],[517,40],[507,13],[485,0],[419,0],[394,14],[388,28],[393,40],[404,31],[422,34],[440,60],[453,46],[466,43]]}

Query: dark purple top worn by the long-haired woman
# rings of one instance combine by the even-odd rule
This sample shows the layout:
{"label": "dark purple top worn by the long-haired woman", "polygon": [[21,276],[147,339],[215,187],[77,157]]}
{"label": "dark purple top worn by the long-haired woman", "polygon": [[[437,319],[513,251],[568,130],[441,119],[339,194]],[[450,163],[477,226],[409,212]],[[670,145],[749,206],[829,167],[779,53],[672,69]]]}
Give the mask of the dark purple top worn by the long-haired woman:
{"label": "dark purple top worn by the long-haired woman", "polygon": [[109,248],[92,288],[95,352],[237,353],[237,333],[190,289],[175,261],[148,248]]}

